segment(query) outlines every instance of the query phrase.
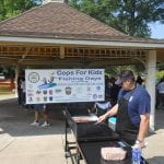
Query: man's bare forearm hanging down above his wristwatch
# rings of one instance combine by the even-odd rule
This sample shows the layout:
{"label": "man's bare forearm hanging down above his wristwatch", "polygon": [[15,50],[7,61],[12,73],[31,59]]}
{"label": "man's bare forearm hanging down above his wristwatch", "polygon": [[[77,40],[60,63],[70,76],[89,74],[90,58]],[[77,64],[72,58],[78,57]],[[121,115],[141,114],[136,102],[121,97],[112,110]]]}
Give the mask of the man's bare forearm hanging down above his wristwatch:
{"label": "man's bare forearm hanging down above his wristwatch", "polygon": [[140,128],[137,140],[143,142],[149,130],[150,114],[140,115]]}

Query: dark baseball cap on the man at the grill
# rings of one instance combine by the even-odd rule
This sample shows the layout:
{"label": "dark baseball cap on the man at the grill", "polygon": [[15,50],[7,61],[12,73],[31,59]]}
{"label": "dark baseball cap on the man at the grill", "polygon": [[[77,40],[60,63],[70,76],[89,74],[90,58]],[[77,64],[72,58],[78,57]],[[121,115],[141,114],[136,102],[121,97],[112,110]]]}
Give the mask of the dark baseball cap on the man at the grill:
{"label": "dark baseball cap on the man at the grill", "polygon": [[131,80],[131,79],[134,80],[133,72],[131,70],[124,70],[118,74],[118,79],[116,80],[115,84],[121,85],[124,81]]}

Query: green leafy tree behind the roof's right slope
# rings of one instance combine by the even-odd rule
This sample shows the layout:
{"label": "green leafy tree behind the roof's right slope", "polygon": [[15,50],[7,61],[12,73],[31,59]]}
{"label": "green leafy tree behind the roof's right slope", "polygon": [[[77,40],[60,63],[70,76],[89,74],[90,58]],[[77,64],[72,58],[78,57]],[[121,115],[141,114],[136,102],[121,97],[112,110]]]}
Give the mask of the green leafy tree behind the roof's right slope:
{"label": "green leafy tree behind the roof's right slope", "polygon": [[149,23],[164,23],[163,0],[71,0],[71,5],[131,36],[150,37]]}

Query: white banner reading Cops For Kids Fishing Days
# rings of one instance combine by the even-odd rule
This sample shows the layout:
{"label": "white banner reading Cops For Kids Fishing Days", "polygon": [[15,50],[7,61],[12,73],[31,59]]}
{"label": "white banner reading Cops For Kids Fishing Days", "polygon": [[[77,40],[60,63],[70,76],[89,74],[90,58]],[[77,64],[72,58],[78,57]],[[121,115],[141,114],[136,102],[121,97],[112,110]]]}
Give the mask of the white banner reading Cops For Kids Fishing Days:
{"label": "white banner reading Cops For Kids Fishing Days", "polygon": [[26,104],[104,101],[104,69],[25,70]]}

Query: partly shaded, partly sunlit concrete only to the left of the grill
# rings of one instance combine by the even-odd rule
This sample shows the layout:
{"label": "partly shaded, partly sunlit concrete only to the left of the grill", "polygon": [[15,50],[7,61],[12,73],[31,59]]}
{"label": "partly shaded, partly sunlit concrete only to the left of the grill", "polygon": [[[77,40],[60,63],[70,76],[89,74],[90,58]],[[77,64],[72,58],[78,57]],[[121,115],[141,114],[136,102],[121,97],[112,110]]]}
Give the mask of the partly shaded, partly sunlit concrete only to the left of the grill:
{"label": "partly shaded, partly sunlit concrete only to the left of the grill", "polygon": [[1,164],[65,164],[65,124],[61,108],[51,112],[51,126],[32,127],[34,110],[17,106],[15,98],[0,102]]}

